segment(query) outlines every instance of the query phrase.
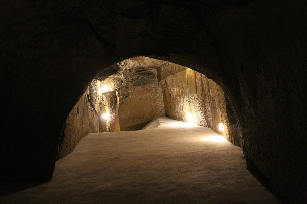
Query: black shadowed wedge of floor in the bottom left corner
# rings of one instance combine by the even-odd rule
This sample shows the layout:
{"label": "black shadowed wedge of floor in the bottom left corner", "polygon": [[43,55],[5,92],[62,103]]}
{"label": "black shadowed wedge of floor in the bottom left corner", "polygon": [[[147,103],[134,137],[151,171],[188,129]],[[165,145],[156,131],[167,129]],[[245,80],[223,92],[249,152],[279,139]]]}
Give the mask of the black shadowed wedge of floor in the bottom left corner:
{"label": "black shadowed wedge of floor in the bottom left corner", "polygon": [[44,182],[0,182],[0,197],[32,188]]}

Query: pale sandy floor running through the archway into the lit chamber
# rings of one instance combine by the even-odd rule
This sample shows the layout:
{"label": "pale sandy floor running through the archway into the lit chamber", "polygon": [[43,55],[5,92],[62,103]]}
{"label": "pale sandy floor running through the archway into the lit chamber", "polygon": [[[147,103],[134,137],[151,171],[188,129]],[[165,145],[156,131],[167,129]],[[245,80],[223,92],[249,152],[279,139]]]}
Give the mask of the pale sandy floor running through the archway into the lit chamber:
{"label": "pale sandy floor running through the archway into the lit chamber", "polygon": [[278,203],[242,150],[210,128],[166,118],[152,126],[87,135],[50,182],[0,203]]}

